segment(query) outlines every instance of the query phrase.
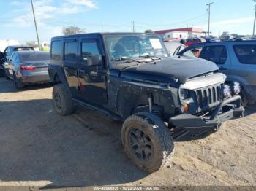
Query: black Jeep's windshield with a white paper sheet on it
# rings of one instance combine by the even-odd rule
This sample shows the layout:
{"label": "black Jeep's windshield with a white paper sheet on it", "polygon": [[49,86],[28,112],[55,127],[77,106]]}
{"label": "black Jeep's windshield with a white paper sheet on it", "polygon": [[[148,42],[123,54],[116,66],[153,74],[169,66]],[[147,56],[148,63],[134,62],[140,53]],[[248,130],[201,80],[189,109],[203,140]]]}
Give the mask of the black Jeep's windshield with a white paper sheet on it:
{"label": "black Jeep's windshield with a white paper sheet on it", "polygon": [[112,61],[124,58],[168,56],[162,39],[157,36],[106,36],[105,42]]}

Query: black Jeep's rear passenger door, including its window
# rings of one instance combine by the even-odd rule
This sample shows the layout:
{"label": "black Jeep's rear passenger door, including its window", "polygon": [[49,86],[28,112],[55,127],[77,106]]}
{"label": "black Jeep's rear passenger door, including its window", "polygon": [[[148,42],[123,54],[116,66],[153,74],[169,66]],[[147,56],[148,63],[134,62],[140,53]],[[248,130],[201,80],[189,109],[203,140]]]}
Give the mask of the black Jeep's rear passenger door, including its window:
{"label": "black Jeep's rear passenger door, including its window", "polygon": [[64,71],[69,88],[74,97],[78,97],[78,41],[64,40]]}

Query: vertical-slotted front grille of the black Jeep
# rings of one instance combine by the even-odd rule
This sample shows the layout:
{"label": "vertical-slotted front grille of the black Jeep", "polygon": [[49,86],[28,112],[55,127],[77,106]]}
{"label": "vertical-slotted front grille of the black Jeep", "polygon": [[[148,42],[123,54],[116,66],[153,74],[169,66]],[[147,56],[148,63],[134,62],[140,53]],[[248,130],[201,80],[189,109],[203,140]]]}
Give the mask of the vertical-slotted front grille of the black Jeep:
{"label": "vertical-slotted front grille of the black Jeep", "polygon": [[222,99],[221,88],[222,85],[215,85],[196,90],[198,112],[219,104]]}

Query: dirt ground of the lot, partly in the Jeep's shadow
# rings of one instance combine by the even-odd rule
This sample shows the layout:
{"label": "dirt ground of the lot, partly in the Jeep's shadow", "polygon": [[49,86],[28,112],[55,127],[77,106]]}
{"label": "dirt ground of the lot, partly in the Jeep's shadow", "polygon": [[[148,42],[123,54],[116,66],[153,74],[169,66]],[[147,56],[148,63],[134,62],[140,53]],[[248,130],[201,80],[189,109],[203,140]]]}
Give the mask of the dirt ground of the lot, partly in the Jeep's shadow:
{"label": "dirt ground of the lot, partly in the Jeep's shadow", "polygon": [[172,167],[146,174],[124,154],[120,122],[81,107],[61,117],[51,92],[0,79],[0,186],[256,185],[256,107],[204,139],[176,141]]}

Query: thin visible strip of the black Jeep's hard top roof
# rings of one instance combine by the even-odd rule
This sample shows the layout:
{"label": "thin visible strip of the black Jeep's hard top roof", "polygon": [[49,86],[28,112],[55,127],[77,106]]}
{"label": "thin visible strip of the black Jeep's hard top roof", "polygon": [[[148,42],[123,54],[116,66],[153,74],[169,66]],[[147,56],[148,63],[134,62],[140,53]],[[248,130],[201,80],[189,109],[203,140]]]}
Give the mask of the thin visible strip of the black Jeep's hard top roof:
{"label": "thin visible strip of the black Jeep's hard top roof", "polygon": [[159,34],[145,34],[145,33],[132,33],[132,32],[118,32],[118,33],[87,33],[87,34],[72,34],[66,36],[55,36],[52,39],[70,38],[70,37],[81,37],[81,36],[105,36],[105,35],[154,35]]}

